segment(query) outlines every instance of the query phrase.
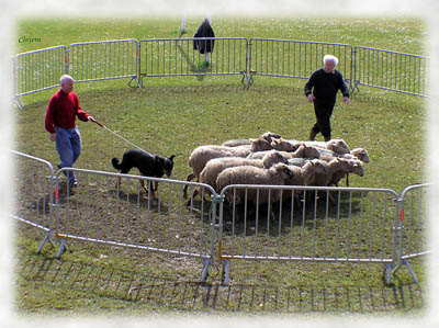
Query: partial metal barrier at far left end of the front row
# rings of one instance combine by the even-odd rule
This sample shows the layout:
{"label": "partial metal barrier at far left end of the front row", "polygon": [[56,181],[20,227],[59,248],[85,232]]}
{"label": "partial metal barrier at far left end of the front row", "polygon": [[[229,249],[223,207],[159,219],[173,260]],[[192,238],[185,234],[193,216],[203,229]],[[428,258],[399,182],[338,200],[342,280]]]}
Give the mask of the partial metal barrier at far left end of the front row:
{"label": "partial metal barrier at far left end of the front row", "polygon": [[55,180],[53,166],[43,159],[10,150],[14,163],[14,211],[11,217],[45,235],[37,253],[54,229]]}

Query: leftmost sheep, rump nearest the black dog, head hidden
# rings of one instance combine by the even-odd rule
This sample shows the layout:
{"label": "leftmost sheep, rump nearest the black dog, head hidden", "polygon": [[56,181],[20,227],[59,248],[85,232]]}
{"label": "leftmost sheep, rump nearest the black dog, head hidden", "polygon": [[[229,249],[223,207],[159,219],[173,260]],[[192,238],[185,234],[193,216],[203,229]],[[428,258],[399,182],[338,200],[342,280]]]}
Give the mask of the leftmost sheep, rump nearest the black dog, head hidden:
{"label": "leftmost sheep, rump nearest the black dog, head hidden", "polygon": [[[218,157],[247,157],[250,154],[250,147],[225,147],[216,145],[204,145],[196,147],[189,157],[189,166],[192,168],[192,173],[187,178],[191,181],[196,178],[200,179],[200,173],[204,169],[206,162],[213,158]],[[188,184],[183,189],[183,195],[187,196]]]}

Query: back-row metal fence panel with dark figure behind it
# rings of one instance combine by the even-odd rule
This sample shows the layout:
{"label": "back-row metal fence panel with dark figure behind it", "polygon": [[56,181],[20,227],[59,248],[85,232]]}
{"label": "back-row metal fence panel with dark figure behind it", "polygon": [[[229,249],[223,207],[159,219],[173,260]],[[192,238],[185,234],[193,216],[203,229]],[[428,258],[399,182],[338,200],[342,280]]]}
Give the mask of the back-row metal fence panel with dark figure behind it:
{"label": "back-row metal fence panel with dark figure behind it", "polygon": [[[211,53],[200,53],[194,43],[202,43]],[[247,39],[215,38],[157,38],[139,42],[139,79],[175,76],[232,76],[246,77]],[[143,84],[143,82],[140,82]]]}

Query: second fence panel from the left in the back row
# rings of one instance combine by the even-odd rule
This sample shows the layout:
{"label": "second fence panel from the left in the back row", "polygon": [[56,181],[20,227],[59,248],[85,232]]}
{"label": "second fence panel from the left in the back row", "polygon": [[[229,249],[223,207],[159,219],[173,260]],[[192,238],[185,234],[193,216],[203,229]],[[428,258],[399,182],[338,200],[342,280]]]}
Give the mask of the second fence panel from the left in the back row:
{"label": "second fence panel from the left in the back row", "polygon": [[68,47],[69,75],[77,82],[137,79],[137,44],[135,39],[71,44]]}

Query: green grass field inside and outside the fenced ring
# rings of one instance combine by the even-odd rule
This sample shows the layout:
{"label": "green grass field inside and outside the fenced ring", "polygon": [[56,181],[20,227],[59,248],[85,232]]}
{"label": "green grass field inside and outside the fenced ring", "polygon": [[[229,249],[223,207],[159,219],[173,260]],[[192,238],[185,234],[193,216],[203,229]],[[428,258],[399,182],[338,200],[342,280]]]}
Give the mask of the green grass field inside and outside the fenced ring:
{"label": "green grass field inside and outside the fenced ring", "polygon": [[[189,19],[188,35],[200,20]],[[176,37],[175,20],[23,20],[18,35],[41,42],[18,44],[18,53],[77,42]],[[217,36],[273,37],[319,41],[425,54],[426,30],[416,19],[215,19]],[[305,139],[314,123],[303,82],[255,78],[246,90],[240,78],[206,77],[148,79],[132,90],[126,80],[76,84],[82,108],[111,129],[142,148],[176,155],[173,178],[184,180],[193,148],[233,138],[257,137],[266,131],[285,138]],[[57,165],[54,144],[44,131],[48,98],[55,89],[22,99],[16,111],[14,149]],[[427,168],[425,100],[360,89],[351,104],[338,100],[333,135],[351,148],[367,148],[371,162],[352,186],[389,188],[399,193],[406,185],[425,182]],[[76,167],[112,171],[112,157],[130,148],[91,123],[79,122],[82,155]],[[31,137],[30,137],[31,136]],[[21,314],[133,314],[191,310],[193,313],[402,313],[419,314],[425,303],[426,265],[414,261],[421,281],[414,285],[405,270],[396,283],[383,285],[381,265],[233,263],[233,284],[219,287],[221,268],[211,283],[200,286],[198,260],[97,246],[71,245],[61,260],[45,247],[35,256],[33,230],[20,229],[16,308]],[[423,286],[423,287],[421,287]],[[416,309],[416,310],[414,310]]]}

